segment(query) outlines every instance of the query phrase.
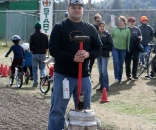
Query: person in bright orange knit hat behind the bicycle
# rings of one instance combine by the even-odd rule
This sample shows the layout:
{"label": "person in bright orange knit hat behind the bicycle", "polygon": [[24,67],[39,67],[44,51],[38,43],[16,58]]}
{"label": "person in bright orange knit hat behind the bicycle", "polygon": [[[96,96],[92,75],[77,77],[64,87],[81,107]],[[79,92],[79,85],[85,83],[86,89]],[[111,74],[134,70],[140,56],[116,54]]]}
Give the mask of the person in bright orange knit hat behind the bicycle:
{"label": "person in bright orange knit hat behind the bicycle", "polygon": [[[140,52],[140,55],[142,55],[142,53],[144,52],[146,53],[150,52],[150,46],[148,44],[150,43],[150,41],[153,40],[154,30],[150,25],[148,25],[148,18],[146,16],[142,16],[140,18],[140,22],[141,22],[141,25],[139,25],[138,28],[141,30],[141,33],[142,33],[141,44],[144,47],[144,51]],[[144,64],[143,56],[140,57],[140,61],[142,62],[142,64]]]}

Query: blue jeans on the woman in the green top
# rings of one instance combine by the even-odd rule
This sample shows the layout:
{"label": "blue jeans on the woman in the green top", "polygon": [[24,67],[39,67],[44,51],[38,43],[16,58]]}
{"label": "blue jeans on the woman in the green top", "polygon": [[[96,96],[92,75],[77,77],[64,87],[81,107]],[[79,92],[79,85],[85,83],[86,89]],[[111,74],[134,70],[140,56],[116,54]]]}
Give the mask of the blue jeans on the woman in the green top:
{"label": "blue jeans on the woman in the green top", "polygon": [[122,73],[123,73],[123,63],[126,56],[126,50],[118,50],[116,48],[113,48],[112,55],[113,55],[115,79],[121,81]]}

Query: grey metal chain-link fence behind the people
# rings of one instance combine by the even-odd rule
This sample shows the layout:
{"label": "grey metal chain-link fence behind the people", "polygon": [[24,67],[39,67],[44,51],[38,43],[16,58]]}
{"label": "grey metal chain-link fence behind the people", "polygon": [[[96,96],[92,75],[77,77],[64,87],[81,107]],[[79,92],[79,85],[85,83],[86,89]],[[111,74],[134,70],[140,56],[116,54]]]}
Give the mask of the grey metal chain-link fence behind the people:
{"label": "grey metal chain-link fence behind the people", "polygon": [[[53,24],[64,19],[66,10],[53,11]],[[15,34],[19,35],[22,42],[29,42],[30,35],[34,32],[34,23],[39,20],[39,11],[0,11],[0,38],[5,39],[6,42],[11,40]],[[156,10],[85,10],[83,20],[94,23],[94,15],[99,13],[102,19],[106,22],[106,29],[112,30],[111,15],[115,16],[115,24],[117,25],[118,17],[123,15],[125,17],[135,16],[136,26],[140,24],[140,17],[146,15],[149,19],[149,24],[156,29]]]}

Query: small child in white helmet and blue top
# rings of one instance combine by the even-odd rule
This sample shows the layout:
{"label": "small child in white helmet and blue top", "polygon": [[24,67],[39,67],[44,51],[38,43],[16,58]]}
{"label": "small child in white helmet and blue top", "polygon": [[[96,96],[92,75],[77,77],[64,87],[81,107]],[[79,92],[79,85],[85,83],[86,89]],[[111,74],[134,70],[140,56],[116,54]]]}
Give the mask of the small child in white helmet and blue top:
{"label": "small child in white helmet and blue top", "polygon": [[25,57],[24,57],[24,61],[23,61],[23,72],[26,73],[27,72],[27,68],[29,68],[30,71],[30,80],[33,80],[33,75],[32,75],[32,54],[30,52],[30,48],[29,48],[29,43],[23,43],[22,47],[25,51]]}

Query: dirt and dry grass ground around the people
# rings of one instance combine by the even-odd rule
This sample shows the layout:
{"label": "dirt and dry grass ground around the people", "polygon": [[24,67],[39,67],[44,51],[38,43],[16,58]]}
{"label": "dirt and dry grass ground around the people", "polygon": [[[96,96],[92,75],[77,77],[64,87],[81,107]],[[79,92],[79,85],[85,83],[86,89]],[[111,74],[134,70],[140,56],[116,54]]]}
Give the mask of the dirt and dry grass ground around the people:
{"label": "dirt and dry grass ground around the people", "polygon": [[[4,58],[0,50],[0,63],[9,65],[10,60]],[[124,79],[125,74],[124,75]],[[156,80],[142,77],[138,81],[124,81],[114,84],[112,60],[109,61],[110,91],[107,93],[109,103],[98,102],[101,93],[96,92],[98,85],[98,70],[96,63],[93,68],[92,80],[92,109],[102,121],[104,130],[156,130]],[[49,91],[42,94],[39,87],[33,89],[32,83],[17,89],[14,84],[8,86],[8,77],[0,77],[0,130],[46,130],[50,109]],[[119,105],[118,105],[119,104]],[[118,111],[126,105],[134,106],[134,111],[149,107],[147,113],[129,114]],[[126,109],[129,109],[129,106]],[[73,108],[73,101],[68,105],[68,110]]]}

